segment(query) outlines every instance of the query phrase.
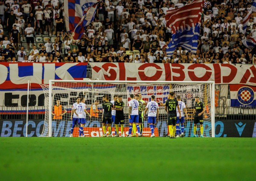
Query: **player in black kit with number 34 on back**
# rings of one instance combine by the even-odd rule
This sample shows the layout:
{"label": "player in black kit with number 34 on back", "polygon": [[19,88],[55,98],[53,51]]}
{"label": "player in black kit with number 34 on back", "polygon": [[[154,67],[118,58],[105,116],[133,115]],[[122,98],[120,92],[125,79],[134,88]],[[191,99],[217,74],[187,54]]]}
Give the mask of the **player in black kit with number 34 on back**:
{"label": "player in black kit with number 34 on back", "polygon": [[[169,125],[170,138],[175,138],[177,111],[180,114],[180,106],[176,99],[174,99],[174,92],[170,92],[170,99],[165,102],[165,111],[167,112],[167,125]],[[181,119],[181,114],[180,117]]]}

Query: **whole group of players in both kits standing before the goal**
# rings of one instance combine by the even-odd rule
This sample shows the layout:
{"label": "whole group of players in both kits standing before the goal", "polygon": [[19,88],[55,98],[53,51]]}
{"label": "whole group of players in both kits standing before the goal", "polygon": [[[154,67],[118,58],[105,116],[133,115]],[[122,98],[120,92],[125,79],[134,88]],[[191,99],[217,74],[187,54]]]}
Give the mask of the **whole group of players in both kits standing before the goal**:
{"label": "whole group of players in both kits standing before the goal", "polygon": [[[186,105],[181,101],[180,96],[177,96],[177,99],[174,99],[174,92],[170,92],[168,94],[166,102],[158,103],[155,101],[156,97],[154,95],[151,96],[151,101],[145,103],[142,100],[142,95],[139,93],[137,95],[130,94],[131,100],[128,102],[129,106],[129,134],[127,137],[137,137],[136,129],[138,131],[138,137],[143,136],[143,119],[145,119],[146,113],[148,112],[148,124],[151,130],[151,136],[155,137],[154,129],[156,121],[158,121],[159,116],[159,105],[165,106],[165,111],[167,112],[167,125],[168,125],[168,133],[166,137],[176,138],[176,137],[184,137],[184,116],[188,119],[188,113],[186,110]],[[110,101],[108,96],[103,96],[102,100],[102,129],[103,135],[101,137],[112,137],[112,122],[115,124],[115,136],[119,137],[119,124],[121,125],[121,137],[125,137],[124,135],[124,102],[122,96],[115,95],[113,100]],[[204,103],[199,100],[199,97],[195,97],[195,107],[192,113],[191,119],[194,117],[194,135],[192,137],[196,137],[196,125],[200,124],[200,137],[203,136],[204,128],[203,128],[203,113],[205,112]],[[91,115],[86,111],[86,105],[84,104],[84,98],[76,98],[76,103],[72,106],[71,119],[72,119],[72,127],[70,130],[70,137],[73,137],[73,131],[76,124],[79,126],[79,137],[84,137],[84,124],[86,123],[86,114],[91,118]],[[143,107],[145,107],[145,111],[143,113]],[[185,115],[184,115],[185,112]],[[72,117],[73,116],[73,117]],[[181,124],[181,129],[180,129]],[[108,128],[108,135],[107,135]],[[176,137],[175,137],[176,133]]]}

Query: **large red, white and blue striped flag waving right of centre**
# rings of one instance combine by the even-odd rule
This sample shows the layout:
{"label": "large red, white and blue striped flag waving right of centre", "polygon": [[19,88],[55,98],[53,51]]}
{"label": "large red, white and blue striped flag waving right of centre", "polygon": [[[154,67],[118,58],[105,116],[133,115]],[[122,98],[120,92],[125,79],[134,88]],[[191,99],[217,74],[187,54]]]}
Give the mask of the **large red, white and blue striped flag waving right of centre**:
{"label": "large red, white and blue striped flag waving right of centre", "polygon": [[184,7],[167,11],[166,26],[172,31],[172,40],[166,49],[167,56],[171,56],[177,47],[196,53],[203,4],[204,0],[195,0]]}

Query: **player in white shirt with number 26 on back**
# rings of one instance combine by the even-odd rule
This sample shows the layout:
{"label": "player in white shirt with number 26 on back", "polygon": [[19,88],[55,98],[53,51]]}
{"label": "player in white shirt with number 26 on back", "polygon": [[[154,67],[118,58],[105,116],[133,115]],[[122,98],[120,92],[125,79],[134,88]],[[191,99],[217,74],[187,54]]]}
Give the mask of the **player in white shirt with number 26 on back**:
{"label": "player in white shirt with number 26 on back", "polygon": [[159,115],[158,104],[157,102],[155,102],[155,98],[156,97],[154,95],[151,96],[151,101],[148,102],[144,112],[144,119],[145,119],[146,112],[148,111],[148,124],[151,130],[151,136],[150,136],[151,138],[155,137],[154,129],[155,129],[156,121],[158,120],[158,115]]}

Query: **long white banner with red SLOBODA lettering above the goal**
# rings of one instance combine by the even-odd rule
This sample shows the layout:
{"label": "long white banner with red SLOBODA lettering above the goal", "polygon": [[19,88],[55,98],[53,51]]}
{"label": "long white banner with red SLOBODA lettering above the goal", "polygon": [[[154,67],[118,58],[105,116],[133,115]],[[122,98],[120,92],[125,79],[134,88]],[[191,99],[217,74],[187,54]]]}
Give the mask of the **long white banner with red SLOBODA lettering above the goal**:
{"label": "long white banner with red SLOBODA lettering above the goal", "polygon": [[92,80],[215,81],[256,85],[256,66],[244,64],[92,62]]}

